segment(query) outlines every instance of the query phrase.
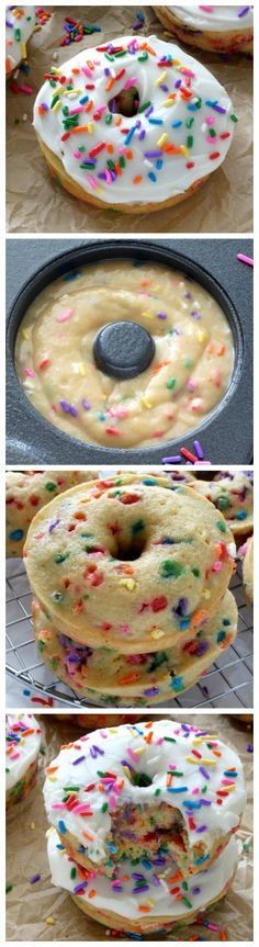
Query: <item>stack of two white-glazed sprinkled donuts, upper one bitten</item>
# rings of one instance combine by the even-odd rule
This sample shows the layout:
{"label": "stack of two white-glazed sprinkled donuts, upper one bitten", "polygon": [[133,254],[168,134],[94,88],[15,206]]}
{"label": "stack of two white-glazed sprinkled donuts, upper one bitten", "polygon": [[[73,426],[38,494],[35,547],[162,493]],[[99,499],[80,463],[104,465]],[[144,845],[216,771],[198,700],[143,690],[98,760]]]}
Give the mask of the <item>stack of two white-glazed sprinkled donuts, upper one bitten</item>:
{"label": "stack of two white-glazed sprinkled donuts, upper one bitten", "polygon": [[246,791],[214,734],[180,720],[94,731],[61,747],[44,797],[53,883],[109,927],[191,923],[230,884]]}

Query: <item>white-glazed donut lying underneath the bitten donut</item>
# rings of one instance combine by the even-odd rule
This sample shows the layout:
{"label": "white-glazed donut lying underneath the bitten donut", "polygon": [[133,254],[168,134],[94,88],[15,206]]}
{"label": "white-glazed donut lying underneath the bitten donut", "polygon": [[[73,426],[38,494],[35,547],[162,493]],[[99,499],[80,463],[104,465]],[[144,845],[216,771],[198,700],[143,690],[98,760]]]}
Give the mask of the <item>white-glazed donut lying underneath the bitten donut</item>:
{"label": "white-glazed donut lying underneath the bitten donut", "polygon": [[[52,828],[47,832],[47,855],[52,883],[69,891],[77,907],[108,928],[138,935],[166,934],[176,924],[191,924],[198,913],[200,916],[227,893],[238,864],[238,846],[232,838],[216,861],[189,883],[166,855],[144,859],[144,865],[136,866],[138,871],[126,859],[117,870],[116,883],[99,875],[92,877],[93,872],[90,880],[89,872],[66,852]],[[170,878],[176,879],[174,884]]]}

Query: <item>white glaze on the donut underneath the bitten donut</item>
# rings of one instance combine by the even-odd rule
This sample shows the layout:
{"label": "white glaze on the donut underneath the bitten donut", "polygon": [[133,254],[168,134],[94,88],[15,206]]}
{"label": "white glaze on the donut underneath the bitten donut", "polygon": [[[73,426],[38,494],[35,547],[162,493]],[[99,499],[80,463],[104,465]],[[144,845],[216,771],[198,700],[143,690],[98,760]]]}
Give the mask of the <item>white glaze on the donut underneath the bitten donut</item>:
{"label": "white glaze on the donut underneath the bitten donut", "polygon": [[[47,835],[47,854],[52,872],[52,882],[58,888],[65,888],[70,892],[70,894],[72,894],[81,879],[79,876],[74,880],[70,878],[74,863],[67,855],[66,850],[60,849],[60,841],[57,833],[50,830]],[[176,894],[170,893],[171,884],[168,883],[167,879],[171,878],[178,871],[176,863],[170,858],[166,860],[166,864],[162,865],[160,869],[154,866],[156,877],[159,878],[159,875],[161,876],[160,884],[154,884],[151,880],[153,871],[146,870],[142,863],[134,869],[132,863],[126,860],[123,861],[123,865],[121,869],[119,868],[117,872],[117,880],[121,881],[123,886],[123,892],[114,893],[114,887],[112,887],[111,881],[109,881],[104,876],[101,878],[97,876],[94,878],[94,884],[92,884],[90,880],[83,893],[80,893],[80,901],[86,905],[89,903],[89,906],[92,905],[94,909],[120,914],[122,922],[123,918],[139,921],[140,914],[138,906],[144,902],[146,903],[147,899],[150,899],[150,903],[153,902],[153,906],[150,906],[150,911],[148,913],[148,918],[166,916],[169,921],[170,918],[173,921],[174,918],[188,917],[191,910],[204,910],[206,904],[210,904],[212,900],[216,901],[216,899],[219,898],[237,867],[237,860],[238,845],[232,838],[224,852],[222,852],[216,861],[214,861],[206,871],[199,871],[194,877],[190,877],[188,891],[182,891],[182,893],[185,893],[190,900],[190,903],[192,904],[191,909],[188,907],[182,900],[177,898]],[[134,870],[138,872],[140,871],[147,883],[150,886],[149,891],[145,892],[142,897],[139,893],[137,895],[133,894],[134,880],[132,879],[132,872]],[[130,876],[128,881],[124,880],[125,875]],[[184,879],[184,881],[187,881],[187,879]],[[89,891],[91,891],[93,887],[95,897],[92,901],[89,899]],[[193,889],[196,892],[194,894],[192,893]]]}

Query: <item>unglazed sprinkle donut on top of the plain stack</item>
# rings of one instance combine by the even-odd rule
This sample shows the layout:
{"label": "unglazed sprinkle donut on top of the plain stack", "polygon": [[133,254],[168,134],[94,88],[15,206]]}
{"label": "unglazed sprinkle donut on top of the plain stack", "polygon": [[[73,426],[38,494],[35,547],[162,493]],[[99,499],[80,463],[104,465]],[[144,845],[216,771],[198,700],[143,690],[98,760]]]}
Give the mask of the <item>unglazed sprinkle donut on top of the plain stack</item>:
{"label": "unglazed sprinkle donut on top of the plain stack", "polygon": [[213,617],[234,567],[224,517],[168,477],[92,481],[36,514],[24,546],[55,628],[123,654],[172,647]]}

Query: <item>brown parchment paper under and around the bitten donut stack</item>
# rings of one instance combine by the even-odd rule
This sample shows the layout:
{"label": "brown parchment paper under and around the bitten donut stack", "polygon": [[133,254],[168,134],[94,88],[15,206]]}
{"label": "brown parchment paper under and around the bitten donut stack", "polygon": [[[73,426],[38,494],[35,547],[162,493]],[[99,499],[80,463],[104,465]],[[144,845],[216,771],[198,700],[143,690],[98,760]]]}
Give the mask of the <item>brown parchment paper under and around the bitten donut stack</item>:
{"label": "brown parchment paper under and around the bitten donut stack", "polygon": [[[169,714],[167,714],[168,717]],[[146,717],[146,714],[144,714]],[[155,720],[159,714],[153,715]],[[176,717],[176,715],[174,715]],[[241,830],[238,839],[243,848],[239,865],[232,889],[227,897],[219,901],[209,914],[203,915],[210,922],[219,925],[227,934],[228,940],[252,940],[252,754],[246,751],[252,743],[251,726],[241,723],[238,714],[199,714],[184,713],[183,721],[199,726],[212,729],[221,739],[233,746],[243,759],[246,775],[248,802],[243,815]],[[7,882],[12,890],[7,894],[7,939],[29,940],[106,940],[106,928],[92,921],[80,911],[68,892],[54,888],[50,882],[45,832],[47,820],[44,812],[42,785],[44,766],[57,754],[60,744],[76,740],[82,730],[76,725],[60,723],[55,717],[41,715],[44,730],[46,755],[44,765],[38,773],[37,786],[29,797],[21,815],[19,805],[16,815],[7,825]],[[109,715],[108,715],[109,725]],[[35,828],[31,825],[35,824]],[[41,875],[41,880],[32,884],[30,879]],[[202,916],[202,915],[201,915]],[[54,923],[47,923],[47,917]],[[205,940],[218,940],[218,928],[212,933],[205,927],[191,925],[178,928],[166,939],[179,942],[189,940],[200,935]],[[112,939],[112,934],[109,940]],[[126,935],[115,939],[127,940]],[[161,940],[161,935],[148,937],[150,940]]]}

